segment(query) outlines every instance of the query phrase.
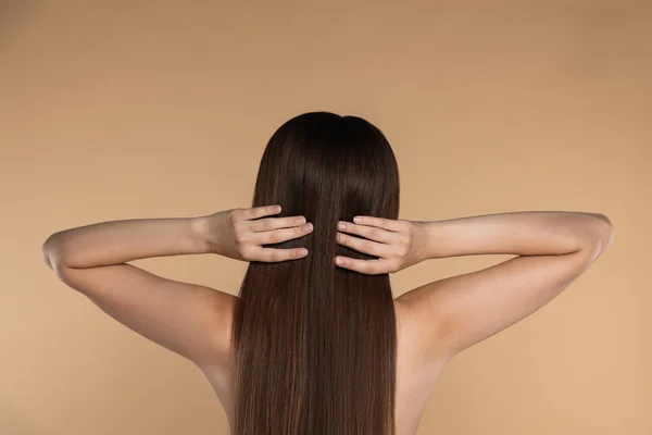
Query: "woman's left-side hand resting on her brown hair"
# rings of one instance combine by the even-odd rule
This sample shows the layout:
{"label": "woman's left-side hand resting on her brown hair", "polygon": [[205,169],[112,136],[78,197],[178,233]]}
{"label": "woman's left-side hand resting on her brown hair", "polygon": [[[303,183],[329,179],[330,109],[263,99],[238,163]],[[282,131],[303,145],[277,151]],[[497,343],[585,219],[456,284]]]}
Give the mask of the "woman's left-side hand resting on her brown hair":
{"label": "woman's left-side hand resting on her brown hair", "polygon": [[299,238],[313,231],[312,224],[305,224],[304,216],[259,219],[278,213],[280,206],[231,209],[197,217],[196,227],[210,252],[236,260],[279,262],[305,257],[308,250],[304,248],[262,247]]}

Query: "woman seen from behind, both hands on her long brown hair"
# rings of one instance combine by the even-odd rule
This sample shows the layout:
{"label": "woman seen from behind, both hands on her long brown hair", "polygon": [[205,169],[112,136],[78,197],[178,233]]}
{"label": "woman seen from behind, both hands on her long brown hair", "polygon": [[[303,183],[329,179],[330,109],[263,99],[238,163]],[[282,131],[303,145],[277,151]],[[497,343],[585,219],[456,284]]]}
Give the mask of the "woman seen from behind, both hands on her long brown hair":
{"label": "woman seen from behind, both hands on her long brown hair", "polygon": [[[234,435],[413,435],[444,364],[551,301],[614,229],[582,212],[398,214],[383,133],[313,112],[272,136],[252,208],[66,229],[42,251],[68,286],[197,364]],[[249,262],[238,297],[127,263],[188,253]],[[392,297],[390,273],[482,253],[516,257]]]}

